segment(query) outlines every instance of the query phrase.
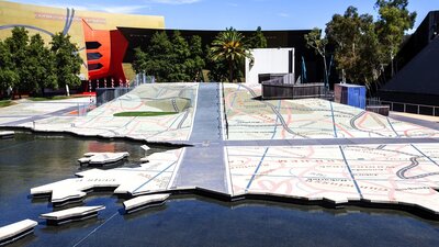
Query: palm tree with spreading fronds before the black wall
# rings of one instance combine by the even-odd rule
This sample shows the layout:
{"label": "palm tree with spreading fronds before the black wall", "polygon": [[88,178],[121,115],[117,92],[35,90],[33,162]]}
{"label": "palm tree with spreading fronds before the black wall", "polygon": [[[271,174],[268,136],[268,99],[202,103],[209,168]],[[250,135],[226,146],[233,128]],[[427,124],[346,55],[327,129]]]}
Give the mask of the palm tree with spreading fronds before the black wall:
{"label": "palm tree with spreading fronds before the black wall", "polygon": [[233,67],[235,63],[244,58],[249,58],[251,60],[250,64],[254,61],[254,56],[244,42],[244,35],[233,27],[218,33],[212,42],[211,53],[214,61],[225,60],[228,63],[229,82],[233,82]]}

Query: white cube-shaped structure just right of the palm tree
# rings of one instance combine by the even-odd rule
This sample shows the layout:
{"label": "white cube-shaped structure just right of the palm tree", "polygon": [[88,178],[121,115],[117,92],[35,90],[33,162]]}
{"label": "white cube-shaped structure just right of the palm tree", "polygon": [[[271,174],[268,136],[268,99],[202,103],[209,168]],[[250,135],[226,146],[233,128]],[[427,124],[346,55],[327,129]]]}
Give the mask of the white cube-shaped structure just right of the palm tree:
{"label": "white cube-shaped structure just right of the palm tree", "polygon": [[294,74],[294,48],[252,49],[255,63],[246,58],[246,83],[257,83],[260,74]]}

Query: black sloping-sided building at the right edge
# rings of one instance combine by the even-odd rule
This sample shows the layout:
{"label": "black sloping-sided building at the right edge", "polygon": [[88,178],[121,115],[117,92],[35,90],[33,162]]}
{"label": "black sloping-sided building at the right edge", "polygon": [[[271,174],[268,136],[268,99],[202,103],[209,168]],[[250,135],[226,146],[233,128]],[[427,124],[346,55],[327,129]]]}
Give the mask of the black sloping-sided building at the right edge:
{"label": "black sloping-sided building at the right edge", "polygon": [[[431,11],[395,56],[393,69],[386,68],[384,80],[387,82],[379,91],[381,100],[439,106],[438,34],[439,11]],[[417,106],[407,108],[406,111],[417,111]],[[431,109],[420,110],[431,114]]]}

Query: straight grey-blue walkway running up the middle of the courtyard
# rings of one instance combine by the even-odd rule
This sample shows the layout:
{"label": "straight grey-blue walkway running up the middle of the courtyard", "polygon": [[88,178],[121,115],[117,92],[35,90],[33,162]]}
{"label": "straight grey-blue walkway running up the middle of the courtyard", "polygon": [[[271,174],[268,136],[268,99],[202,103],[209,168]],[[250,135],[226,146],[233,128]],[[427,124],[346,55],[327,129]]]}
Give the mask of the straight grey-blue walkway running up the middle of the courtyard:
{"label": "straight grey-blue walkway running up the middle of the courtyard", "polygon": [[224,161],[219,85],[200,83],[195,119],[172,188],[199,187],[228,193]]}

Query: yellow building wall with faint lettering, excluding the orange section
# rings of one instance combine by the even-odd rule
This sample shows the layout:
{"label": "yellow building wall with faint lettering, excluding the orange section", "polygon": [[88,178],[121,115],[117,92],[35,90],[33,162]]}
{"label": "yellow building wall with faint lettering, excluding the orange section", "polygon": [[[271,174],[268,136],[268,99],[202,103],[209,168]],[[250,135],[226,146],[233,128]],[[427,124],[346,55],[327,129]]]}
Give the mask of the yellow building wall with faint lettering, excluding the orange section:
{"label": "yellow building wall with faint lettering, excluding the orange section", "polygon": [[[22,4],[15,2],[0,1],[0,40],[11,36],[9,26],[27,25],[45,30],[49,33],[63,32],[66,20],[71,16],[72,9],[69,9],[67,18],[67,9],[42,7],[33,4]],[[95,11],[75,10],[71,26],[68,34],[71,42],[80,49],[82,60],[87,64],[86,44],[83,40],[83,31],[81,20],[94,30],[116,30],[121,27],[138,27],[138,29],[165,29],[165,18],[154,15],[137,14],[114,14]],[[50,42],[50,35],[33,29],[26,29],[30,35],[40,33],[45,42]],[[81,68],[83,79],[88,79],[88,71],[85,66]]]}

